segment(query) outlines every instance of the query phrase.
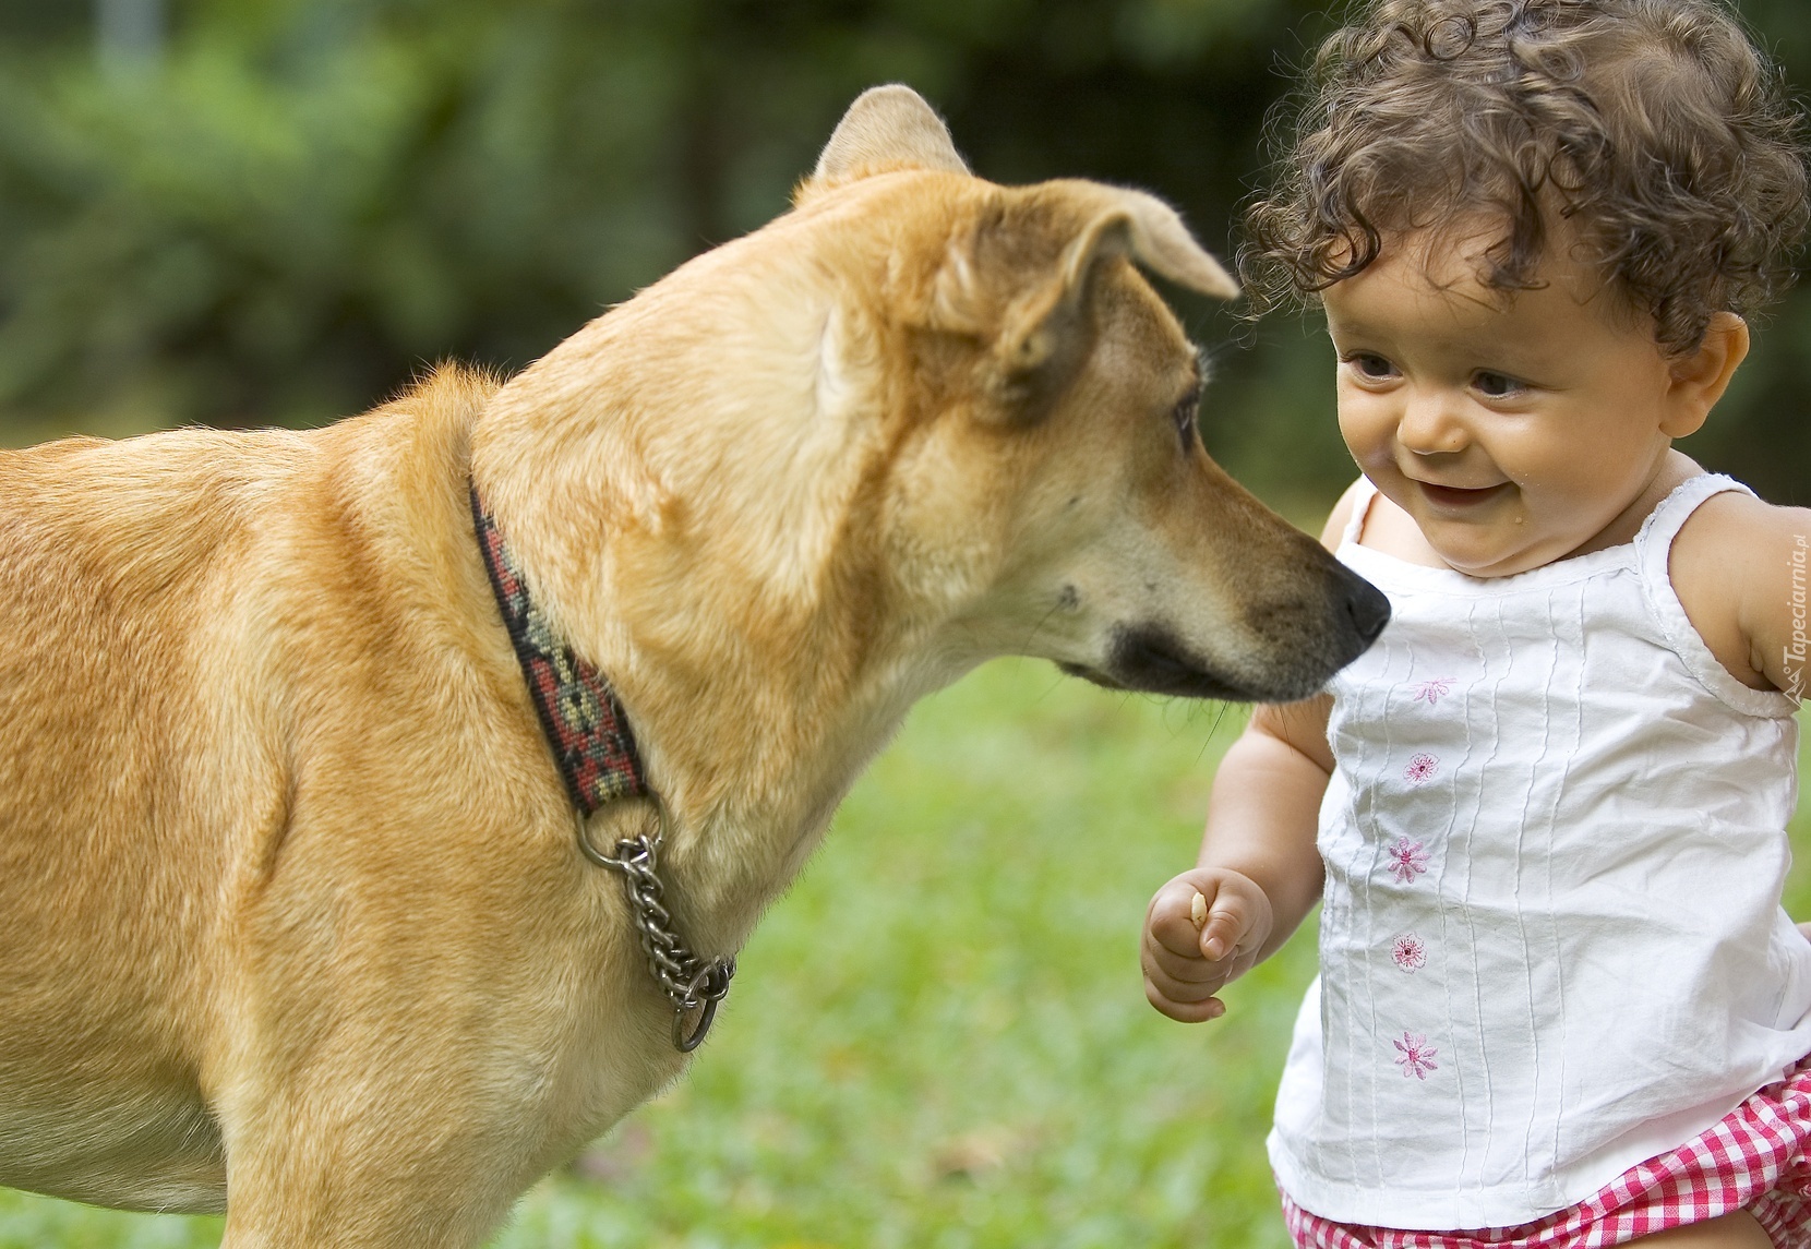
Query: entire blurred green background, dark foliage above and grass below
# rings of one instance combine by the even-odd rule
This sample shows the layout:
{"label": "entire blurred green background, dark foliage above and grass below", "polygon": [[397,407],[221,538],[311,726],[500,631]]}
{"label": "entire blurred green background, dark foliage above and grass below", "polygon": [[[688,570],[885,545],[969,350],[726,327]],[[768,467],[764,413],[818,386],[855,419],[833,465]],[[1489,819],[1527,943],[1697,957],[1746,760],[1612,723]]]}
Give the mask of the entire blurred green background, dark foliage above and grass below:
{"label": "entire blurred green background, dark foliage above and grass below", "polygon": [[[1744,11],[1811,85],[1811,9]],[[0,442],[310,425],[438,358],[520,367],[782,212],[877,81],[983,176],[1148,186],[1224,253],[1327,27],[1308,0],[0,0]],[[1219,360],[1208,445],[1317,523],[1353,472],[1326,344],[1177,306]],[[1804,378],[1811,291],[1686,449],[1811,503]],[[1135,967],[1241,726],[1029,663],[927,701],[692,1075],[498,1245],[1280,1249],[1262,1137],[1311,941],[1210,1028]],[[217,1238],[0,1191],[0,1249]]]}

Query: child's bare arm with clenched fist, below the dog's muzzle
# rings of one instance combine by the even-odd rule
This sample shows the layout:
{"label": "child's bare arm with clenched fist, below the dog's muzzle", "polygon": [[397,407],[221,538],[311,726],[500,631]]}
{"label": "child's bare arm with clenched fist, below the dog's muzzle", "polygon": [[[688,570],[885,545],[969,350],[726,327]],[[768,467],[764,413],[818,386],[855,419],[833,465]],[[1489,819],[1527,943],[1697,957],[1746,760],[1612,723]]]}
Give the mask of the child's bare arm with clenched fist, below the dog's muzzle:
{"label": "child's bare arm with clenched fist, below the dog's muzzle", "polygon": [[[1333,509],[1322,545],[1338,543],[1351,498],[1347,491]],[[1159,889],[1145,914],[1145,997],[1172,1019],[1203,1023],[1226,1014],[1215,994],[1270,958],[1320,900],[1315,831],[1333,775],[1331,710],[1326,695],[1253,708],[1251,724],[1221,760],[1197,865]]]}

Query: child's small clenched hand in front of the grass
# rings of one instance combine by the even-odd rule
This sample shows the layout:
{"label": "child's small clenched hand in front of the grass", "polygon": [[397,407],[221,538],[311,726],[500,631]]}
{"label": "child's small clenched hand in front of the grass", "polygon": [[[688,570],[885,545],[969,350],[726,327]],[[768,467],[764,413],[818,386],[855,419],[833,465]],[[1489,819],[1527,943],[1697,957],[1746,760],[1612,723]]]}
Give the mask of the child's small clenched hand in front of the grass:
{"label": "child's small clenched hand in front of the grass", "polygon": [[1250,876],[1208,867],[1183,872],[1145,914],[1145,997],[1181,1023],[1219,1019],[1226,1003],[1213,994],[1251,970],[1270,929],[1270,898]]}

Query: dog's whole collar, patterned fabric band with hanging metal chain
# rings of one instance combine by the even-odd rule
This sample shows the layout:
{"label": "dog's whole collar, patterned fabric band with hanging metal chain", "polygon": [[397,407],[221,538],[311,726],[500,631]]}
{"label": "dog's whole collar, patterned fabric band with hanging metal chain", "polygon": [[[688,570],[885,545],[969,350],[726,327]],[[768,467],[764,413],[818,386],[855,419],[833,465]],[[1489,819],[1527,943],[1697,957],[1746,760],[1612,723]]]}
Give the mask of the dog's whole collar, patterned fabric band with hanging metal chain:
{"label": "dog's whole collar, patterned fabric band with hanging metal chain", "polygon": [[661,903],[665,885],[657,872],[659,836],[643,833],[623,838],[614,854],[592,845],[585,816],[618,798],[654,796],[647,773],[641,771],[636,735],[628,729],[628,717],[610,691],[610,682],[572,653],[554,632],[547,612],[529,596],[509,543],[478,498],[476,483],[471,485],[471,523],[541,731],[578,809],[578,847],[598,867],[621,872],[648,972],[674,1005],[674,1048],[690,1054],[704,1041],[717,1017],[717,1003],[730,992],[735,959],[703,959],[674,932],[672,912]]}

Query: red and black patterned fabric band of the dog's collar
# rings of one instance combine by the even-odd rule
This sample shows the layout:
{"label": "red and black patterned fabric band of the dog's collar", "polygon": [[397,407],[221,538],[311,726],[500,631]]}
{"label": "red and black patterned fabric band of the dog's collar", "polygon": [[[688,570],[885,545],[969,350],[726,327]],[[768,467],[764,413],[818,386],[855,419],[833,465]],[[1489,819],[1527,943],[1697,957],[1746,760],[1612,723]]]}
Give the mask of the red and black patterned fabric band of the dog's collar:
{"label": "red and black patterned fabric band of the dog's collar", "polygon": [[471,520],[491,574],[491,590],[503,612],[509,641],[522,663],[522,675],[534,697],[547,744],[560,764],[560,777],[581,815],[607,802],[648,793],[641,771],[636,735],[628,729],[623,704],[610,682],[596,668],[560,641],[547,612],[529,597],[522,572],[511,559],[496,520],[484,509],[478,487],[471,487]]}

